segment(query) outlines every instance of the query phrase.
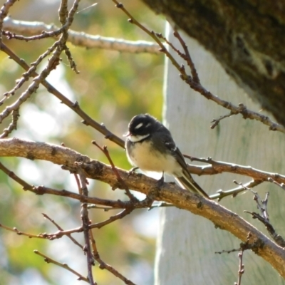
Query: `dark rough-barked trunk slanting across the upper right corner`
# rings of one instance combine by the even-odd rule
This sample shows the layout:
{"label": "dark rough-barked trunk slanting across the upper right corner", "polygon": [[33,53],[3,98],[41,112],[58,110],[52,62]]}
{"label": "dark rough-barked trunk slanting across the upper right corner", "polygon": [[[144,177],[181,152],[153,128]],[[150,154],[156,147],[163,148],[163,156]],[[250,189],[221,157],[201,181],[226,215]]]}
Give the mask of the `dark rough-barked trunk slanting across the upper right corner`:
{"label": "dark rough-barked trunk slanting across the upper right corner", "polygon": [[143,0],[210,51],[285,125],[285,1]]}

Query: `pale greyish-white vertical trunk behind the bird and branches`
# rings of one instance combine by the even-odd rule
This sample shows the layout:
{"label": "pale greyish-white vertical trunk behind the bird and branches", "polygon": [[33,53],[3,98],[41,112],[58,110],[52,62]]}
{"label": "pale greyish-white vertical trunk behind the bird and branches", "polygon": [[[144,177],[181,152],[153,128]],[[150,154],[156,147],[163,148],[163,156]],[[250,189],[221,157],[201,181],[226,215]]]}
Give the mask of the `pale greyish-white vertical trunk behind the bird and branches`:
{"label": "pale greyish-white vertical trunk behind the bird and branches", "polygon": [[[185,36],[184,36],[185,38]],[[170,41],[177,41],[170,33]],[[213,38],[214,41],[214,38]],[[188,38],[187,45],[195,61],[202,84],[212,93],[224,100],[238,105],[244,103],[248,108],[258,111],[259,105],[227,76],[214,58],[204,51],[196,41]],[[180,46],[179,46],[180,48]],[[182,48],[180,48],[182,50]],[[182,61],[179,60],[181,63]],[[211,130],[213,118],[228,113],[191,90],[178,76],[178,72],[167,61],[165,71],[165,124],[170,128],[177,145],[183,153],[197,157],[212,157],[240,165],[251,165],[261,170],[285,172],[284,135],[269,131],[268,127],[253,120],[244,120],[241,115],[222,120]],[[264,112],[263,112],[264,113]],[[283,157],[283,158],[282,158]],[[247,182],[249,177],[238,175],[213,175],[194,179],[209,194],[219,189],[236,187],[233,180]],[[270,183],[254,189],[264,197],[270,191],[269,214],[271,222],[279,234],[285,234],[283,202],[285,192]],[[257,211],[249,192],[232,199],[227,197],[220,202],[232,209],[266,232],[257,221],[243,211]],[[240,241],[228,232],[215,229],[214,224],[190,212],[175,208],[161,209],[160,229],[157,238],[157,257],[155,264],[156,285],[182,284],[234,284],[237,281],[239,259],[237,253],[214,254],[223,249],[239,248]],[[285,284],[270,264],[252,252],[244,253],[245,273],[242,285]]]}

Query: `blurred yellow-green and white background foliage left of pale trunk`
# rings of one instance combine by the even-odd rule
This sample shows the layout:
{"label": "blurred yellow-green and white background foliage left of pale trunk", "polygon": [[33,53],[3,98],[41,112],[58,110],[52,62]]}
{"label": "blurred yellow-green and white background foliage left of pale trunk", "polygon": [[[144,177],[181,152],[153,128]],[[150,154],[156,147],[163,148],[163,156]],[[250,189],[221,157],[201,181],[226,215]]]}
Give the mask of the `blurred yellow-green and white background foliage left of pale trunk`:
{"label": "blurred yellow-green and white background foliage left of pale trunk", "polygon": [[[1,6],[5,1],[0,0]],[[71,1],[69,1],[72,3]],[[58,21],[58,0],[17,1],[10,9],[12,19],[23,21],[43,21],[56,24]],[[80,9],[94,4],[94,1],[81,1]],[[124,38],[126,40],[152,41],[140,29],[128,22],[128,17],[115,8],[111,0],[99,0],[97,5],[85,9],[73,21],[71,29],[92,35]],[[164,33],[164,19],[150,11],[140,1],[123,1],[126,9],[138,21],[148,28]],[[36,61],[54,40],[41,41],[6,40],[9,48],[30,64]],[[60,90],[63,95],[78,101],[83,111],[91,118],[104,123],[106,127],[122,137],[133,115],[150,113],[161,119],[162,113],[162,55],[147,53],[120,53],[100,49],[79,48],[68,44],[78,71],[71,71],[65,56],[60,66],[48,76],[48,82]],[[44,68],[44,61],[40,68]],[[0,52],[0,100],[3,93],[14,87],[17,78],[24,71],[5,53]],[[2,112],[11,105],[28,83],[17,90],[16,94],[0,106]],[[2,95],[1,95],[2,94]],[[26,140],[50,142],[88,155],[95,160],[108,163],[104,155],[91,144],[96,140],[107,145],[113,162],[118,167],[130,169],[125,151],[113,142],[105,140],[103,135],[81,123],[75,113],[41,87],[21,106],[18,130],[9,135]],[[4,120],[1,132],[11,119]],[[1,158],[1,162],[13,170],[16,175],[31,185],[44,185],[58,190],[66,189],[78,192],[73,175],[61,170],[50,162],[31,161],[11,157]],[[108,199],[126,199],[120,190],[113,191],[101,182],[89,181],[91,196]],[[142,197],[140,197],[142,198]],[[53,196],[36,196],[24,192],[14,180],[0,172],[0,223],[31,234],[56,232],[56,228],[41,213],[54,219],[63,229],[71,229],[81,224],[81,203],[71,199]],[[115,211],[103,212],[91,209],[92,222],[108,219]],[[155,257],[155,237],[158,210],[137,210],[106,227],[93,231],[100,257],[112,265],[128,279],[137,284],[153,283],[153,264]],[[83,234],[75,234],[83,244]],[[0,285],[8,284],[80,284],[76,276],[53,264],[46,264],[41,257],[33,254],[38,251],[71,268],[87,275],[86,257],[79,247],[63,237],[52,242],[42,239],[29,239],[0,228]],[[94,267],[95,281],[100,285],[123,284],[108,271]]]}

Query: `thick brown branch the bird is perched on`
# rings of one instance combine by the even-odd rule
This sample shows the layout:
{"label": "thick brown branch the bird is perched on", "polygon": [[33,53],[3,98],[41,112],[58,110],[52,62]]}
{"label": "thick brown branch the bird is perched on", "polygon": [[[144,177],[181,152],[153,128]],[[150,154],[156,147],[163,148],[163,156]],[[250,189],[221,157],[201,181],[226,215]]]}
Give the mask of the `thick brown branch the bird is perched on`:
{"label": "thick brown branch the bird is perched on", "polygon": [[[88,157],[66,147],[19,139],[4,139],[0,140],[0,155],[49,160],[58,165],[67,165],[68,167],[73,167],[74,162],[77,161],[80,163],[86,177],[106,182],[111,187],[118,187],[118,178],[114,174],[112,167],[95,160],[89,160]],[[118,172],[130,189],[142,192],[145,195],[153,195],[153,190],[157,189],[156,180],[150,177],[145,177],[144,175],[130,175],[129,177],[127,171],[120,169],[118,169]],[[247,241],[247,236],[250,232],[252,234],[251,243],[258,244],[257,247],[254,247],[254,252],[268,261],[285,278],[284,249],[271,242],[264,234],[237,214],[216,202],[182,190],[172,183],[165,183],[160,191],[156,191],[156,193],[155,199],[170,202],[180,209],[199,214],[212,221],[216,227],[231,232],[243,242]]]}

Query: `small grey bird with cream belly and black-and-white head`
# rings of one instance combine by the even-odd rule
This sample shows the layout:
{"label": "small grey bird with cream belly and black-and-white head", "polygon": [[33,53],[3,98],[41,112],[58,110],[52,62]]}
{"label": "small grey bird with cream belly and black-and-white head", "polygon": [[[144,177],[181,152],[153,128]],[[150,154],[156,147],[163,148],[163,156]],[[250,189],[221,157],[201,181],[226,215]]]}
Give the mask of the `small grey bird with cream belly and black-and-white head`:
{"label": "small grey bird with cream belly and black-and-white head", "polygon": [[[195,194],[209,198],[193,180],[185,159],[176,146],[170,130],[149,114],[135,115],[125,134],[125,150],[128,161],[142,172],[162,172],[175,177],[177,182]],[[132,171],[132,170],[131,170]]]}

